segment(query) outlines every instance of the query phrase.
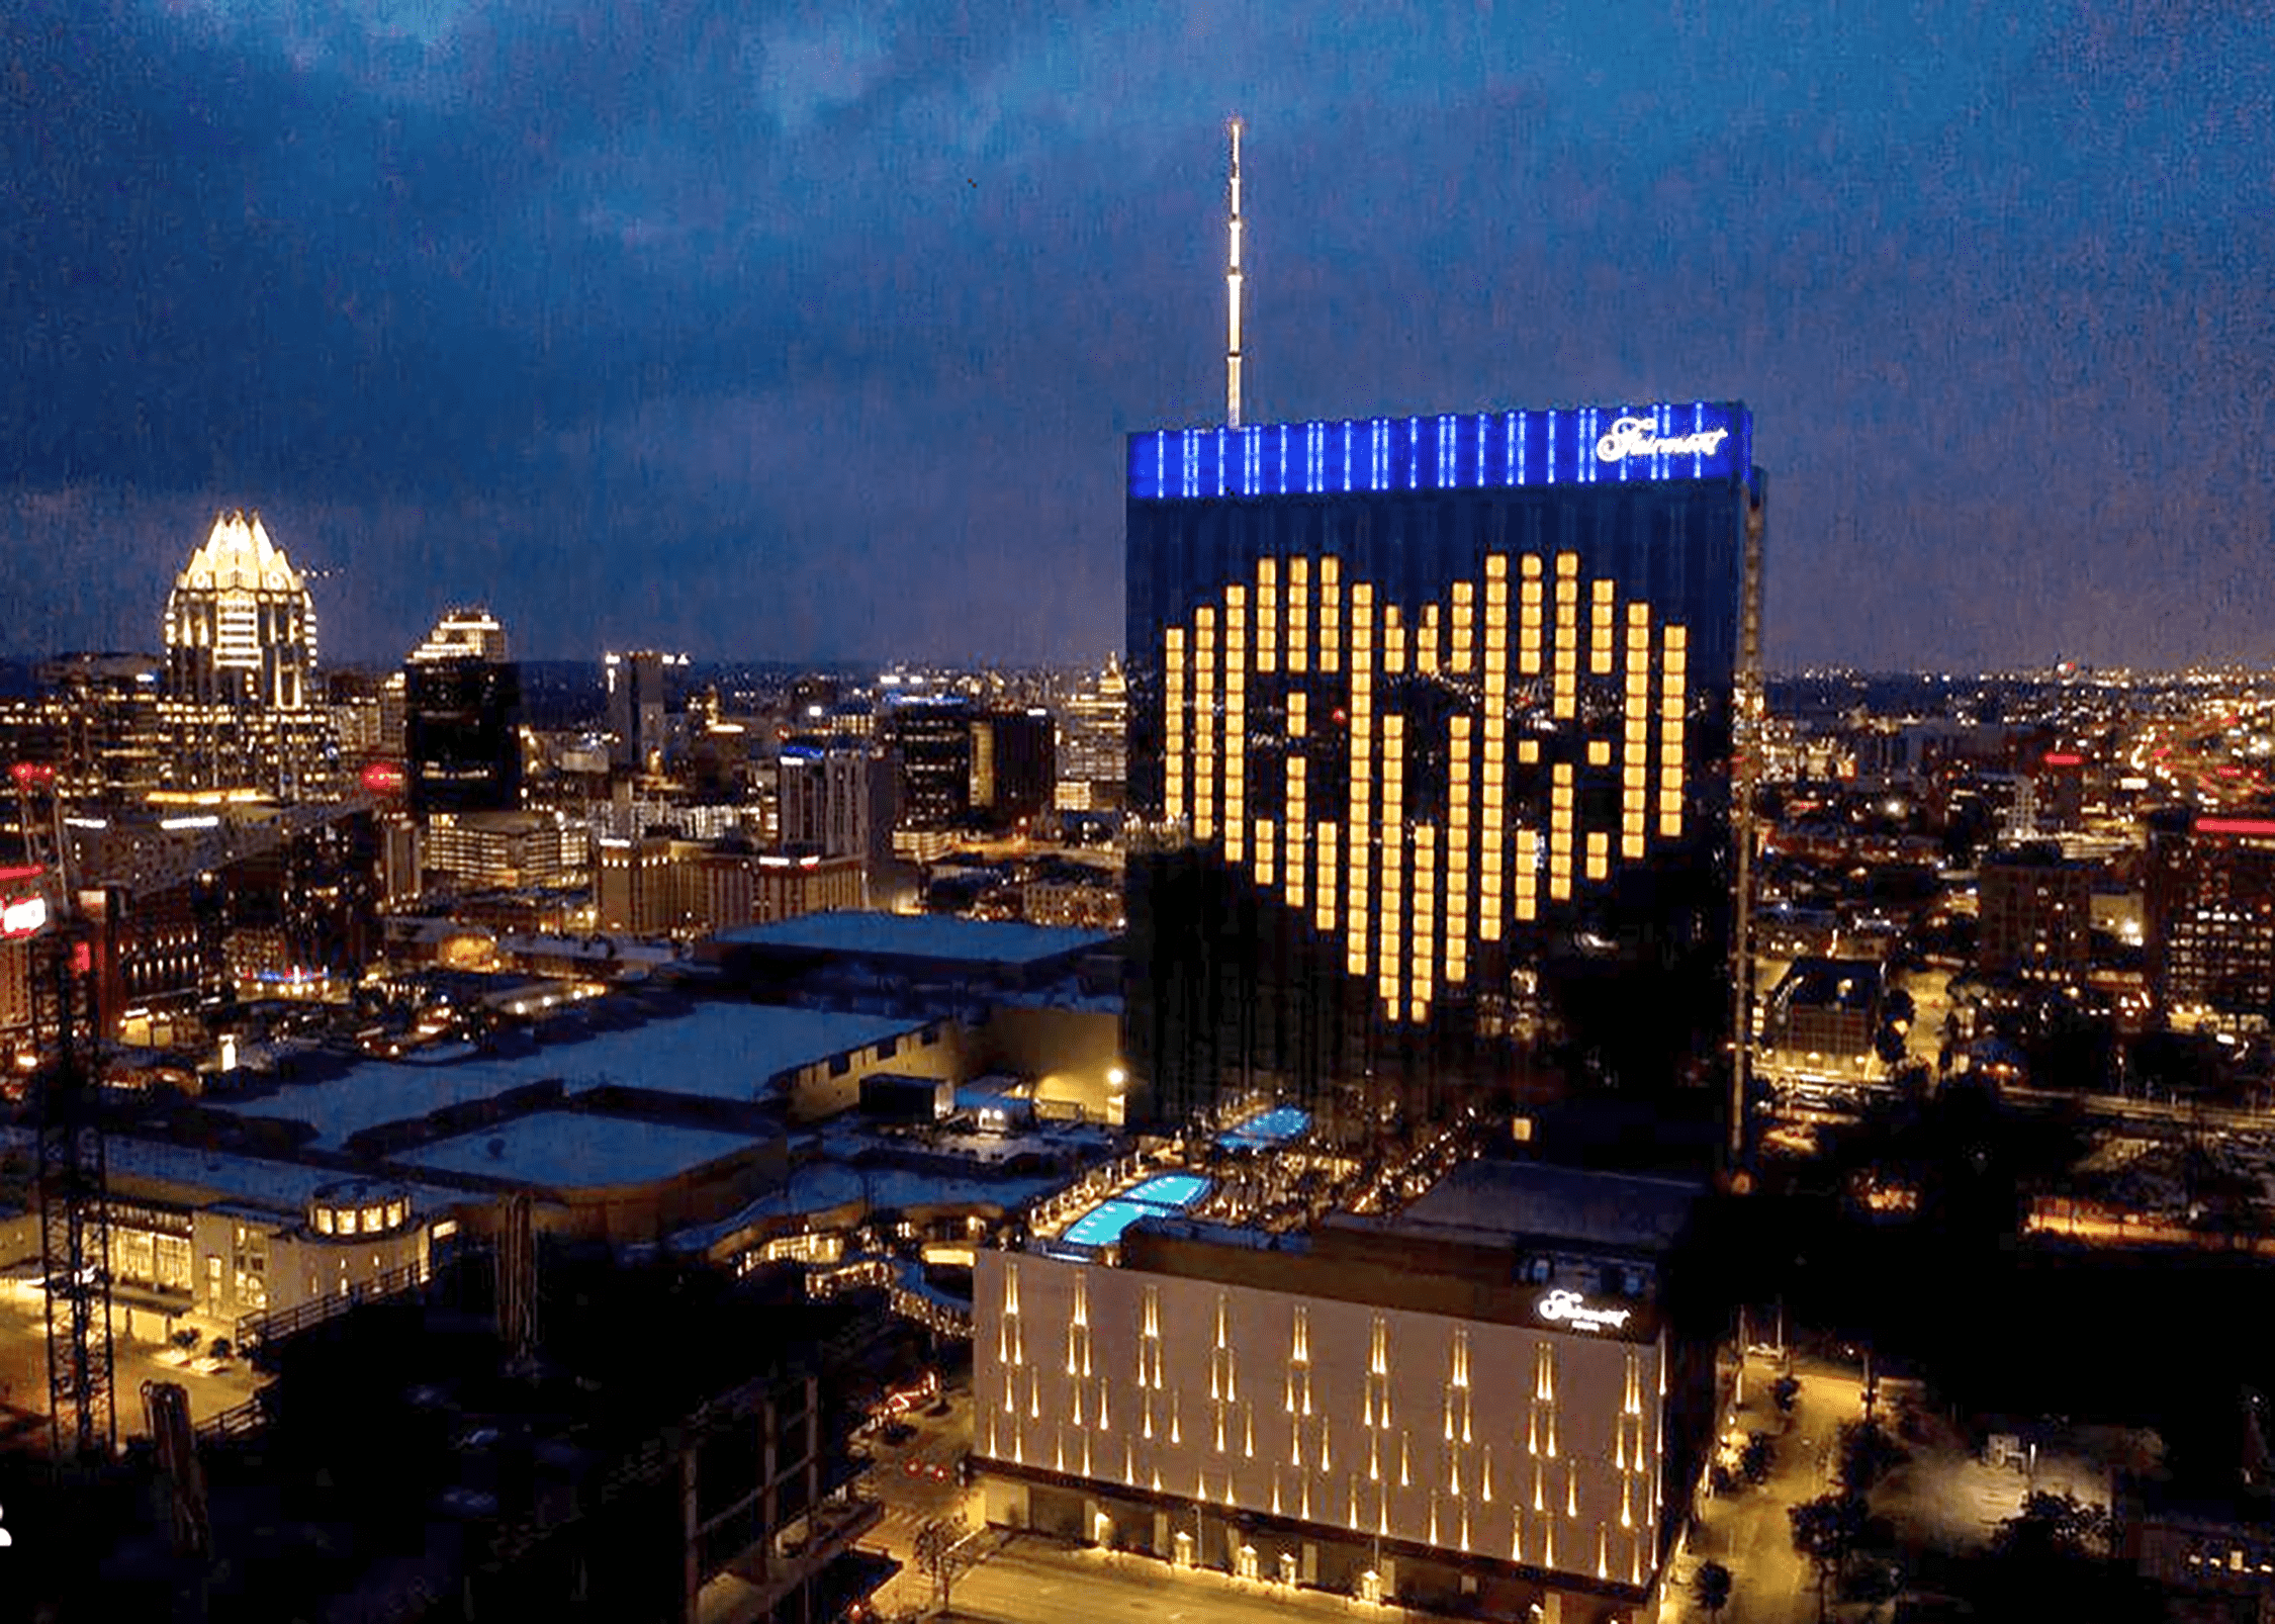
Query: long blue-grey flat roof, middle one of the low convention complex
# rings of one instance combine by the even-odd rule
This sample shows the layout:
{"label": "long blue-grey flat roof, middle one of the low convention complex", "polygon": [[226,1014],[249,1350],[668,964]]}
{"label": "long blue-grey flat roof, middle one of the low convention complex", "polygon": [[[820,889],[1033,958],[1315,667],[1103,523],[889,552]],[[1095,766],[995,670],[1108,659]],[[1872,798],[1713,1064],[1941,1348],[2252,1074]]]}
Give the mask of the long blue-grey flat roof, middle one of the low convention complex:
{"label": "long blue-grey flat roof, middle one of the low convention complex", "polygon": [[928,1021],[905,1017],[698,1003],[687,1014],[598,1030],[576,1042],[544,1042],[519,1055],[471,1055],[444,1064],[364,1060],[325,1083],[287,1083],[275,1094],[216,1101],[216,1108],[239,1117],[305,1121],[316,1128],[318,1146],[341,1149],[366,1128],[414,1121],[446,1105],[469,1105],[548,1080],[560,1080],[566,1094],[626,1087],[762,1101],[783,1074],[903,1039],[926,1026]]}

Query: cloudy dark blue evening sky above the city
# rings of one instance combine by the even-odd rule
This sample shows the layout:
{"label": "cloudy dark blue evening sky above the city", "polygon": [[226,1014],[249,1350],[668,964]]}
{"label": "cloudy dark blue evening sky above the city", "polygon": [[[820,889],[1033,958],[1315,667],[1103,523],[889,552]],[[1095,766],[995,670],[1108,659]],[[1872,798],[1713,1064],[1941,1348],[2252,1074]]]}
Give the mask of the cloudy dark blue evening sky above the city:
{"label": "cloudy dark blue evening sky above the city", "polygon": [[2275,7],[1831,11],[16,0],[0,651],[253,505],[328,657],[1101,657],[1240,111],[1251,421],[1743,398],[1774,666],[2275,660]]}

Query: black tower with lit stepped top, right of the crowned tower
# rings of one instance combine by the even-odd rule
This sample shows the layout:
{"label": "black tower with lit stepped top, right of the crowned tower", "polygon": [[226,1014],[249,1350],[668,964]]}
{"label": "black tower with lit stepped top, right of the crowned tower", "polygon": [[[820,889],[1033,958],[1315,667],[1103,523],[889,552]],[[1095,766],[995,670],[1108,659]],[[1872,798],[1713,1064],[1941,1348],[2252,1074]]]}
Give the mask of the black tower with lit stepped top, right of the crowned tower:
{"label": "black tower with lit stepped top, right of the crowned tower", "polygon": [[512,812],[521,805],[521,666],[487,610],[450,610],[403,666],[410,807]]}

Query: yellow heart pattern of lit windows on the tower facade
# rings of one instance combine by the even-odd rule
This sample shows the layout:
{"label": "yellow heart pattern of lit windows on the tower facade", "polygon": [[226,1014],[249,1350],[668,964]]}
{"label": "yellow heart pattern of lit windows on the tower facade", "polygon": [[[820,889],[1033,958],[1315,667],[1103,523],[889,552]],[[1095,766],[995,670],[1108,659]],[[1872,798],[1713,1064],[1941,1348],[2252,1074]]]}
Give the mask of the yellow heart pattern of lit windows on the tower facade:
{"label": "yellow heart pattern of lit windows on the tower facade", "polygon": [[1163,635],[1165,814],[1340,933],[1392,1019],[1684,832],[1686,628],[1574,553],[1483,564],[1408,621],[1265,557]]}

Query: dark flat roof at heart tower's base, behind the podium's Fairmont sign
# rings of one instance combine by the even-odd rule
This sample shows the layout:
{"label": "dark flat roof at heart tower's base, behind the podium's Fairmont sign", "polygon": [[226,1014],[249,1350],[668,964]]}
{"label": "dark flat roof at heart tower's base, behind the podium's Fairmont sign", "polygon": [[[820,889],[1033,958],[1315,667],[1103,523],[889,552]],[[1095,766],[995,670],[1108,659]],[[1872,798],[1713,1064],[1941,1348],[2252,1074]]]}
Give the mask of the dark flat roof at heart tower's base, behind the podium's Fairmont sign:
{"label": "dark flat roof at heart tower's base, behind the podium's Fairmont sign", "polygon": [[1385,1228],[1502,1235],[1663,1253],[1690,1221],[1704,1185],[1638,1174],[1597,1174],[1542,1162],[1463,1162]]}

